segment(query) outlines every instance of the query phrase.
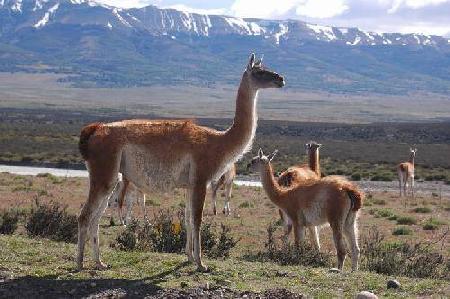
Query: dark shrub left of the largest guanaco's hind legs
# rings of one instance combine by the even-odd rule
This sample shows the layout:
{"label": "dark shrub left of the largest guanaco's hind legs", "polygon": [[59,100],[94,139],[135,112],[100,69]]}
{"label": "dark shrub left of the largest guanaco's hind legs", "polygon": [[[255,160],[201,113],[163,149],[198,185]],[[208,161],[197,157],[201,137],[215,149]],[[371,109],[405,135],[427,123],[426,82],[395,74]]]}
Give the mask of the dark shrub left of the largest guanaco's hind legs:
{"label": "dark shrub left of the largest guanaco's hind legs", "polygon": [[25,224],[28,235],[76,243],[77,217],[66,209],[56,202],[46,204],[36,200]]}

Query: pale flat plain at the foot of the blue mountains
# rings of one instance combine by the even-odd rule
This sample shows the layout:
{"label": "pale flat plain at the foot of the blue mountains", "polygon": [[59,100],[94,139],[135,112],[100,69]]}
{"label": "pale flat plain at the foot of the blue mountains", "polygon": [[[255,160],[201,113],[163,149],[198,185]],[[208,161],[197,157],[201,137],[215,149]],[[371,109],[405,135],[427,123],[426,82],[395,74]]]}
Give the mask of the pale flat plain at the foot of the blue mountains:
{"label": "pale flat plain at the foot of the blue mountains", "polygon": [[[237,85],[72,88],[61,75],[0,73],[1,108],[53,108],[180,118],[231,118]],[[261,92],[259,117],[331,123],[449,120],[448,95],[309,92],[289,88]]]}

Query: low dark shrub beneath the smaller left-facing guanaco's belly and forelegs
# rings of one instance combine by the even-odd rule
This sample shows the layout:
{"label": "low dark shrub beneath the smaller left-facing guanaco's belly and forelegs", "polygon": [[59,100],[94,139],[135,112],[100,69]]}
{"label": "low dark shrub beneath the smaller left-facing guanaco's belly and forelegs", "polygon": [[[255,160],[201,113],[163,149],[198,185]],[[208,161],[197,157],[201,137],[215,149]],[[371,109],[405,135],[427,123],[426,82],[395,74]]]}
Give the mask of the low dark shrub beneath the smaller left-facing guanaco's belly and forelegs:
{"label": "low dark shrub beneath the smaller left-facing guanaco's belly and forelegs", "polygon": [[312,267],[330,267],[331,254],[318,251],[307,242],[300,246],[282,244],[275,240],[277,226],[274,223],[267,227],[267,239],[264,251],[247,254],[244,258],[257,261],[272,261],[280,265],[304,265]]}

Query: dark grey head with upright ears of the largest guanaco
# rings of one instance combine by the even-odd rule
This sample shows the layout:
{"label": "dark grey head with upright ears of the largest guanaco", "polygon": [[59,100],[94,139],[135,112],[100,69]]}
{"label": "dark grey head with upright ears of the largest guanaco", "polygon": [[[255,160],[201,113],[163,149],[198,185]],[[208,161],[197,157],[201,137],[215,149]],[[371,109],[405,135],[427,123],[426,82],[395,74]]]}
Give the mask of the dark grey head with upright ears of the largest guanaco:
{"label": "dark grey head with upright ears of the largest guanaco", "polygon": [[280,88],[285,85],[284,78],[279,74],[266,69],[261,59],[256,61],[255,54],[250,55],[245,74],[250,80],[250,84],[255,89],[260,88]]}

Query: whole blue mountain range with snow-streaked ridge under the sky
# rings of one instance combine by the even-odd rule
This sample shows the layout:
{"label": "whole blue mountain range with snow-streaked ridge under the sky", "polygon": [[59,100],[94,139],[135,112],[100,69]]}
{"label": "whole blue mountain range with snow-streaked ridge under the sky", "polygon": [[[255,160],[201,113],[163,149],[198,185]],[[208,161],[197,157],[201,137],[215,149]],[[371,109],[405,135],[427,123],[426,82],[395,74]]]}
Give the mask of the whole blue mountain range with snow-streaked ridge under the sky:
{"label": "whole blue mountain range with snow-streaked ridge under the sky", "polygon": [[0,0],[3,72],[57,72],[80,87],[215,86],[236,84],[250,52],[295,89],[450,91],[445,37],[90,0]]}

